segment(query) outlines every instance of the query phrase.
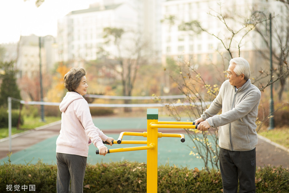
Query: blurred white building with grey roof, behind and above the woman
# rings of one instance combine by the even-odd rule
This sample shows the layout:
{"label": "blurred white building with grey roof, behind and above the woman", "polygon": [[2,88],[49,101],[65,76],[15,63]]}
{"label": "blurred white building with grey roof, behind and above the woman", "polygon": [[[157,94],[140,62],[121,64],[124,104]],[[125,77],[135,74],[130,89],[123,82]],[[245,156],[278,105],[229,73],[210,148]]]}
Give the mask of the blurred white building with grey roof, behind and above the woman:
{"label": "blurred white building with grey roof, behind and above the woman", "polygon": [[[104,47],[103,29],[122,28],[137,31],[137,12],[128,3],[104,5],[96,3],[85,10],[72,11],[58,20],[58,48],[60,60],[82,66],[84,60],[96,60]],[[106,47],[116,56],[115,47]]]}

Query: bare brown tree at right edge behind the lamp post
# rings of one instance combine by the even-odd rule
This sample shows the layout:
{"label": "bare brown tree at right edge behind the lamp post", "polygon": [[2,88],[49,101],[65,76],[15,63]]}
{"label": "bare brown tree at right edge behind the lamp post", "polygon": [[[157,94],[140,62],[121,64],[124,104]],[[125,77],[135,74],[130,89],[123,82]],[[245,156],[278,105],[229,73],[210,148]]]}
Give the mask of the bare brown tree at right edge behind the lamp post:
{"label": "bare brown tree at right edge behind the lamp post", "polygon": [[[283,93],[286,87],[286,81],[288,80],[288,64],[286,60],[289,56],[289,3],[288,1],[281,1],[280,6],[282,12],[269,18],[269,15],[263,12],[254,10],[252,12],[251,22],[253,23],[254,31],[262,38],[264,46],[256,46],[257,51],[264,58],[265,61],[270,61],[270,47],[272,47],[272,62],[273,68],[269,70],[261,70],[262,74],[266,76],[274,76],[270,78],[270,81],[266,82],[260,88],[263,90],[270,82],[276,82],[279,85],[278,99],[282,100]],[[262,23],[258,23],[259,21]],[[270,22],[271,21],[271,22]],[[271,31],[270,24],[271,23]],[[272,44],[270,44],[270,35],[272,38]]]}

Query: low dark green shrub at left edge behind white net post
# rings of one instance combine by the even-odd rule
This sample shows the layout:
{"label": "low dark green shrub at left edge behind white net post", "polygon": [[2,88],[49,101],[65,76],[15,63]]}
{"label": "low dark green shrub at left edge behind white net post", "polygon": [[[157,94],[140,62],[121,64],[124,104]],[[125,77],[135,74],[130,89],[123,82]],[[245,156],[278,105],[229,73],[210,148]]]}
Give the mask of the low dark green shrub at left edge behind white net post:
{"label": "low dark green shrub at left edge behind white net post", "polygon": [[[16,127],[18,124],[19,110],[12,110],[11,112],[11,125]],[[20,124],[23,124],[23,118],[20,118]],[[0,128],[8,128],[8,111],[4,107],[0,108]]]}

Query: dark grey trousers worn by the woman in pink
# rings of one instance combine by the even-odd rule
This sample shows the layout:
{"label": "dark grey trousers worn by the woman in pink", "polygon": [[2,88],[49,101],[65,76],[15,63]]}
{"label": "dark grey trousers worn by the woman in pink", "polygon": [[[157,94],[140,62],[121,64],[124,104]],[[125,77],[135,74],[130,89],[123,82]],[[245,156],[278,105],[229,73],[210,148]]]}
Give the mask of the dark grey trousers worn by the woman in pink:
{"label": "dark grey trousers worn by the woman in pink", "polygon": [[[83,180],[86,169],[87,157],[56,153],[57,160],[57,192],[82,193]],[[70,190],[71,180],[71,190]]]}

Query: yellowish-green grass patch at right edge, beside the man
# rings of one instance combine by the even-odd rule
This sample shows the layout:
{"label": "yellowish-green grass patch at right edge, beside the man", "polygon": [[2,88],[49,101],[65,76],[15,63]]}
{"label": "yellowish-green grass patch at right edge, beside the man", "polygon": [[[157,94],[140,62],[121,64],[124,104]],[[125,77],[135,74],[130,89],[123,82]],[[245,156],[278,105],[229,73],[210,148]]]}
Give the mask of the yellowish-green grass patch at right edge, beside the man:
{"label": "yellowish-green grass patch at right edge, beside the man", "polygon": [[259,135],[270,139],[271,141],[289,148],[289,128],[275,128],[272,130],[262,129],[258,132]]}

